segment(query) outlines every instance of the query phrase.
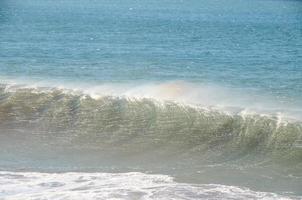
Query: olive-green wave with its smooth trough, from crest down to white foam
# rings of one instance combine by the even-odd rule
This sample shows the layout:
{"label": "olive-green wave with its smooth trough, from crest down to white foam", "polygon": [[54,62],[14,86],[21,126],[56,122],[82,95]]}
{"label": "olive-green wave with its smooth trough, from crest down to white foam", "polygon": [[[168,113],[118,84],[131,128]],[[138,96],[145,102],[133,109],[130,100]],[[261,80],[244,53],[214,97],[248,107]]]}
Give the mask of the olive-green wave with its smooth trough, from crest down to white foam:
{"label": "olive-green wave with its smooth trough, from crest down to white foam", "polygon": [[3,170],[149,171],[300,194],[299,120],[59,88],[0,90]]}

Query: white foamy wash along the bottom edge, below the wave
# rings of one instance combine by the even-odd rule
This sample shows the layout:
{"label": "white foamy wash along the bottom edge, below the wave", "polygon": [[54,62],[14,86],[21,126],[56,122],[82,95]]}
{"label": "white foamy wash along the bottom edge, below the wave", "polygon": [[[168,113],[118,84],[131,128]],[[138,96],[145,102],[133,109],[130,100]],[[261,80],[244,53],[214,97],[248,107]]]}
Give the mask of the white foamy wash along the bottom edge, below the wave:
{"label": "white foamy wash along the bottom edge, below the wave", "polygon": [[167,175],[0,172],[0,199],[300,199],[247,188],[177,183]]}

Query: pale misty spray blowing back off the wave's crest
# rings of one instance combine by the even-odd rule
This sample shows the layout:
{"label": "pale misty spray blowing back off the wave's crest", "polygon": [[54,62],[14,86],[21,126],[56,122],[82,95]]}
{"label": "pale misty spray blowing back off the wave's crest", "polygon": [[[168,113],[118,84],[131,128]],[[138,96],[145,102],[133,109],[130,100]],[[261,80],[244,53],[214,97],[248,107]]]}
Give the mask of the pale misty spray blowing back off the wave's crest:
{"label": "pale misty spray blowing back off the wave's crest", "polygon": [[32,81],[3,79],[1,88],[6,91],[28,89],[31,92],[60,90],[69,94],[88,95],[94,99],[104,97],[126,99],[153,99],[159,103],[172,101],[192,107],[214,108],[229,114],[275,115],[287,120],[302,121],[302,105],[279,102],[264,92],[243,88],[227,88],[217,85],[186,81],[164,81],[143,83],[69,83],[56,81]]}

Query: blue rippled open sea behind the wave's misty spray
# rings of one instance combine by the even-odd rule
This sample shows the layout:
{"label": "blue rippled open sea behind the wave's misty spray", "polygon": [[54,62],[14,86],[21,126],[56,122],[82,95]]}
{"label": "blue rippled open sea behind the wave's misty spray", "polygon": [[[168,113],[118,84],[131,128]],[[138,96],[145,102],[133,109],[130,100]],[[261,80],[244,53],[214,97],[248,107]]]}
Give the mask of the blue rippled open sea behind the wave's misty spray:
{"label": "blue rippled open sea behind the wave's misty spray", "polygon": [[0,75],[302,96],[302,2],[2,0]]}

